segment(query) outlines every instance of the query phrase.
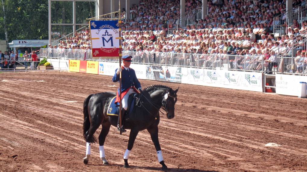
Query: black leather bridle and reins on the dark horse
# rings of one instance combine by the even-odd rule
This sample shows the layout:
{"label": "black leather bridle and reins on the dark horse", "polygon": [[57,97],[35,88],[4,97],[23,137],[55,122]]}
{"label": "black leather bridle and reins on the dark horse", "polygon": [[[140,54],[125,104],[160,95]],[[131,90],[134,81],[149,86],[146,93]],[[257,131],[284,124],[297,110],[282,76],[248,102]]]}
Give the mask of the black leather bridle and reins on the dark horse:
{"label": "black leather bridle and reins on the dark horse", "polygon": [[[167,95],[168,95],[168,96],[167,96],[166,99],[163,98],[163,100],[162,100],[162,106],[161,106],[161,108],[166,112],[166,114],[169,113],[169,111],[168,111],[169,109],[170,109],[170,110],[175,109],[174,107],[173,107],[173,108],[168,107],[167,99],[168,99],[169,97],[172,97],[172,98],[175,99],[174,102],[175,102],[175,103],[177,102],[177,95],[171,96],[171,95],[169,95],[169,92],[167,93]],[[142,92],[141,92],[141,94],[140,94],[140,98],[138,98],[138,100],[137,100],[137,102],[136,102],[136,106],[137,106],[137,107],[143,106],[143,108],[144,108],[151,116],[153,116],[153,117],[155,117],[155,119],[157,119],[157,115],[151,114],[150,111],[145,107],[145,105],[143,105],[143,100],[142,100],[143,98],[145,98],[155,109],[159,110],[159,111],[164,115],[164,113],[160,110],[159,105],[157,105],[156,103],[154,103],[154,102],[152,102],[150,99],[148,99],[146,96],[144,96],[144,95],[142,94]]]}

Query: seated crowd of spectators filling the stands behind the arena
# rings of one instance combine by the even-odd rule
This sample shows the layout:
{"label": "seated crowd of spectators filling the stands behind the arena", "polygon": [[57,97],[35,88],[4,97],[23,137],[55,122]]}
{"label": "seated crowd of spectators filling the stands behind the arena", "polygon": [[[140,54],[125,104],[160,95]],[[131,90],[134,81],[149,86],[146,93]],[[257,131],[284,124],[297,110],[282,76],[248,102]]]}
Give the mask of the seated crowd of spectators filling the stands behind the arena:
{"label": "seated crowd of spectators filling the stands behind the arena", "polygon": [[[293,6],[302,2],[304,3],[302,0],[294,0]],[[196,13],[199,7],[201,7],[200,0],[186,0],[187,14]],[[294,20],[291,25],[286,22],[281,23],[283,20],[279,17],[285,17],[285,9],[285,3],[279,0],[208,1],[208,15],[204,20],[200,19],[195,24],[177,28],[168,34],[167,29],[173,28],[180,18],[180,0],[160,0],[150,3],[141,0],[139,4],[132,5],[131,19],[122,26],[123,50],[138,52],[143,61],[147,59],[155,63],[174,63],[174,59],[167,60],[159,53],[202,54],[197,58],[181,59],[176,62],[214,67],[223,65],[227,61],[230,62],[230,68],[262,70],[266,67],[271,71],[277,63],[275,56],[279,51],[289,48],[292,44],[286,43],[307,29],[307,21],[299,24]],[[272,33],[273,24],[285,27],[285,35],[275,37]],[[280,44],[287,46],[274,49]],[[49,45],[49,48],[90,50],[89,30],[84,29],[75,33],[74,37],[66,37],[57,46]],[[305,48],[301,47],[300,50],[304,51]],[[149,59],[151,57],[148,54],[153,53],[154,58]],[[224,56],[214,60],[216,54]],[[237,59],[231,55],[242,55],[246,58]],[[254,58],[251,58],[252,56]],[[210,60],[212,62],[208,63]],[[260,65],[262,61],[264,65]]]}

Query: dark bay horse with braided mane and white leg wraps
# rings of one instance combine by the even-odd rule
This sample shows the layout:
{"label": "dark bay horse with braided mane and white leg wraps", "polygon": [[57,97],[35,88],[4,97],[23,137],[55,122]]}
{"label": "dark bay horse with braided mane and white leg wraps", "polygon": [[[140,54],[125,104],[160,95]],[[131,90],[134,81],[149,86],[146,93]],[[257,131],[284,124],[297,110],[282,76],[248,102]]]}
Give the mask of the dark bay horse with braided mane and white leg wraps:
{"label": "dark bay horse with braided mane and white leg wraps", "polygon": [[[139,101],[135,101],[133,111],[125,115],[123,119],[125,129],[131,129],[128,147],[123,158],[125,168],[129,167],[128,157],[138,132],[147,129],[157,150],[157,157],[159,163],[162,165],[162,170],[167,169],[158,139],[158,124],[160,122],[159,110],[162,107],[162,109],[166,111],[168,119],[174,118],[178,89],[173,90],[163,85],[149,86],[139,95]],[[97,142],[94,133],[100,125],[102,125],[102,130],[98,137],[100,158],[103,164],[108,164],[105,158],[103,145],[111,125],[117,126],[118,116],[107,115],[109,103],[114,96],[116,96],[116,94],[113,92],[102,92],[89,95],[84,100],[83,136],[86,141],[86,157],[83,159],[84,164],[88,163],[91,155],[90,144]]]}

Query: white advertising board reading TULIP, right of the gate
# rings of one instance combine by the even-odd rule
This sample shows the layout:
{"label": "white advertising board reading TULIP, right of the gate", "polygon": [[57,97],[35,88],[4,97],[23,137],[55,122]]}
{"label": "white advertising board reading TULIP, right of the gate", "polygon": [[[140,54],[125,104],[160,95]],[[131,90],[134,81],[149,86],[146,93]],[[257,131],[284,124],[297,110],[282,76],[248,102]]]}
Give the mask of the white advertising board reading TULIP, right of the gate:
{"label": "white advertising board reading TULIP, right of the gate", "polygon": [[276,74],[276,94],[301,96],[300,82],[307,82],[307,76]]}

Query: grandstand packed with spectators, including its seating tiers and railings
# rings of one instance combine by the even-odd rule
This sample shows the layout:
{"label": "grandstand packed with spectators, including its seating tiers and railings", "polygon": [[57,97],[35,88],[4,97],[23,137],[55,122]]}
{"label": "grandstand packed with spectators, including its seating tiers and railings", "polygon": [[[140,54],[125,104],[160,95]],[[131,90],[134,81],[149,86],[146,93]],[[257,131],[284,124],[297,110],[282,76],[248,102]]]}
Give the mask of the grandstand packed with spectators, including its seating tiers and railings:
{"label": "grandstand packed with spectators, including its seating tiers and railings", "polygon": [[[307,73],[307,60],[296,56],[297,50],[306,49],[304,1],[293,1],[293,8],[286,10],[286,4],[277,0],[213,0],[208,1],[208,15],[203,19],[200,0],[185,1],[184,17],[179,0],[146,2],[131,5],[130,19],[122,27],[123,51],[137,56],[136,63]],[[57,57],[59,51],[65,56],[62,50],[76,51],[73,54],[80,57],[84,52],[78,50],[91,48],[89,30],[81,28],[49,48],[56,49]],[[91,58],[91,53],[85,56]],[[282,58],[287,58],[283,67],[279,65]]]}

